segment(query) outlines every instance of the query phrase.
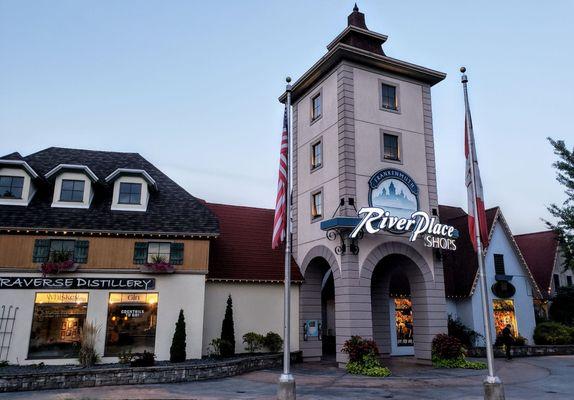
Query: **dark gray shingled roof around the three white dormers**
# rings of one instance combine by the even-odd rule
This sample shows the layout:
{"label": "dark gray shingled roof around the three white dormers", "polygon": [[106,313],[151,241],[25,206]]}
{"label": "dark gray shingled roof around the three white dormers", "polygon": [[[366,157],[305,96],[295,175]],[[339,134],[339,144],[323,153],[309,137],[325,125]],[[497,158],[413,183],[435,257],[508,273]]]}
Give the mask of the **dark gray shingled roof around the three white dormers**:
{"label": "dark gray shingled roof around the three white dormers", "polygon": [[[86,231],[177,233],[214,235],[217,217],[204,202],[186,192],[137,153],[78,150],[50,147],[29,156],[11,153],[2,159],[24,160],[39,175],[38,191],[28,205],[0,205],[0,228],[46,228]],[[89,209],[53,208],[53,180],[44,175],[59,164],[88,166],[99,178]],[[117,168],[145,170],[156,182],[146,212],[112,211],[113,183],[105,178]]]}

